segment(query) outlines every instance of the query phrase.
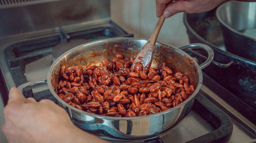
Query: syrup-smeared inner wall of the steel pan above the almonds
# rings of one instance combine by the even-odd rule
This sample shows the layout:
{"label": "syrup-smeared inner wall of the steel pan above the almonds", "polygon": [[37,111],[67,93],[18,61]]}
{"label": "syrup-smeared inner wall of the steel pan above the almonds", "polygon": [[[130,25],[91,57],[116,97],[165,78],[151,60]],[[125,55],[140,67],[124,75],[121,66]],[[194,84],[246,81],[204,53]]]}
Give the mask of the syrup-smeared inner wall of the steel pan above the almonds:
{"label": "syrup-smeared inner wall of the steel pan above the almonds", "polygon": [[[100,62],[104,59],[111,60],[117,54],[123,54],[126,58],[136,57],[137,53],[146,44],[147,40],[115,40],[115,41],[98,41],[89,44],[83,44],[71,49],[64,53],[60,60],[55,61],[55,66],[52,70],[51,83],[56,94],[58,94],[58,82],[60,65],[63,64],[66,67],[76,65],[99,66]],[[154,57],[152,61],[152,68],[157,68],[161,62],[165,62],[166,65],[172,69],[173,73],[182,72],[189,77],[189,84],[197,87],[199,75],[197,74],[197,68],[194,60],[191,60],[184,53],[177,50],[174,47],[167,45],[156,44]],[[54,63],[53,63],[54,64]]]}

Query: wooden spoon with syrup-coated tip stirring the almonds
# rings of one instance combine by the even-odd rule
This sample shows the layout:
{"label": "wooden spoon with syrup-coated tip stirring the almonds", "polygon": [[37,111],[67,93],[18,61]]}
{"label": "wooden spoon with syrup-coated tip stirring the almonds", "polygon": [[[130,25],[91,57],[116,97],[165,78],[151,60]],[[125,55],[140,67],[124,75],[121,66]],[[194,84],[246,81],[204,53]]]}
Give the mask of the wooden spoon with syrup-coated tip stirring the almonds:
{"label": "wooden spoon with syrup-coated tip stirring the almonds", "polygon": [[156,39],[159,34],[160,29],[162,28],[162,25],[165,21],[164,16],[160,16],[157,23],[156,27],[152,33],[152,35],[149,37],[147,43],[144,45],[144,47],[141,49],[141,51],[138,53],[136,59],[134,60],[132,67],[131,67],[131,72],[134,70],[134,66],[137,62],[142,64],[143,67],[143,72],[147,72],[151,66],[152,63],[152,58],[155,50],[155,45],[156,45]]}

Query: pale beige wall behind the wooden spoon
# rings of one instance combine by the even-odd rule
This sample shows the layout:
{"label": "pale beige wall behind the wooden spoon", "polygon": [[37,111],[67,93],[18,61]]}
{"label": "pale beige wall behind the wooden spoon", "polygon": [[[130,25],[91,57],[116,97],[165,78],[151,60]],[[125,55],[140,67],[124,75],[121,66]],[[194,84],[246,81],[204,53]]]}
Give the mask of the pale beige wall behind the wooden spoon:
{"label": "pale beige wall behind the wooden spoon", "polygon": [[[155,0],[111,0],[110,10],[111,19],[138,38],[148,39],[158,20]],[[157,41],[173,46],[189,43],[183,13],[165,20]]]}

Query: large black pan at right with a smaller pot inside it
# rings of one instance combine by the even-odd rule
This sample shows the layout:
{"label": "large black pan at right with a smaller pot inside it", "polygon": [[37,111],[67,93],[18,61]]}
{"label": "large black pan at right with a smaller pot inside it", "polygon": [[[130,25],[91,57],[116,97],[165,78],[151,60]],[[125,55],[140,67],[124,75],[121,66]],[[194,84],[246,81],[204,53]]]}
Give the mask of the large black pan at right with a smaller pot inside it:
{"label": "large black pan at right with a smaller pot inside it", "polygon": [[[203,69],[204,84],[256,124],[256,61],[226,52],[215,9],[184,14],[184,23],[191,43],[207,44],[214,52],[213,62]],[[187,52],[199,62],[205,60],[204,52]]]}

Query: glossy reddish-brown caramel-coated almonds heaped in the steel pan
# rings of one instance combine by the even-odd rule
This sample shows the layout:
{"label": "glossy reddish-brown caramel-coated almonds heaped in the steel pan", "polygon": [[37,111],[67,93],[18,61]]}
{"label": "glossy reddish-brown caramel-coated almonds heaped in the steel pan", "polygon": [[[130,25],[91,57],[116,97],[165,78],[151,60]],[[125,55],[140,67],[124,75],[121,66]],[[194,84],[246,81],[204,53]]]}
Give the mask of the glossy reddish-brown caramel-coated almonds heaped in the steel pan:
{"label": "glossy reddish-brown caramel-coated almonds heaped in the steel pan", "polygon": [[61,65],[59,97],[92,114],[135,117],[175,107],[194,92],[188,77],[173,74],[165,63],[144,73],[141,63],[131,68],[133,61],[118,54],[100,66]]}

